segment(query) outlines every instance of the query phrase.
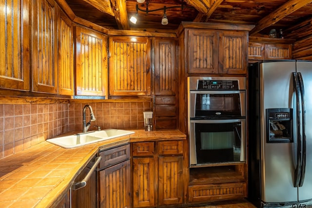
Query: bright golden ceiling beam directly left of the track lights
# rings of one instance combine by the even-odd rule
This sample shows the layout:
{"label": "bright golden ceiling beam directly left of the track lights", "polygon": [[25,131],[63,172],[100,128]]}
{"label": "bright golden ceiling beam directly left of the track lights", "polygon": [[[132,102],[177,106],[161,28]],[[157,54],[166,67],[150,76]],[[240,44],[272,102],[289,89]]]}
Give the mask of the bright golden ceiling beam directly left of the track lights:
{"label": "bright golden ceiling beam directly left of the track lights", "polygon": [[118,29],[130,30],[126,0],[111,0],[111,6],[115,14]]}

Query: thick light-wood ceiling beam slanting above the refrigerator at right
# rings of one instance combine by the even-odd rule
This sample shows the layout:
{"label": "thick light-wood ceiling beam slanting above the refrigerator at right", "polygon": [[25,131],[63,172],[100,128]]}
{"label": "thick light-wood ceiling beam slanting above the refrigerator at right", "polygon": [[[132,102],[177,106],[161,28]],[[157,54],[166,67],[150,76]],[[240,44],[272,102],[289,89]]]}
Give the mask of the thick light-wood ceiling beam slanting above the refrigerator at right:
{"label": "thick light-wood ceiling beam slanting above the refrigerator at right", "polygon": [[252,31],[250,31],[249,35],[254,36],[264,28],[269,27],[270,25],[273,25],[274,23],[278,22],[279,20],[285,18],[286,16],[292,14],[292,12],[300,9],[301,7],[311,3],[311,0],[289,0],[286,3],[284,3],[282,6],[280,6],[278,9],[276,9],[274,12],[269,14],[263,19],[260,19],[256,23],[256,26]]}

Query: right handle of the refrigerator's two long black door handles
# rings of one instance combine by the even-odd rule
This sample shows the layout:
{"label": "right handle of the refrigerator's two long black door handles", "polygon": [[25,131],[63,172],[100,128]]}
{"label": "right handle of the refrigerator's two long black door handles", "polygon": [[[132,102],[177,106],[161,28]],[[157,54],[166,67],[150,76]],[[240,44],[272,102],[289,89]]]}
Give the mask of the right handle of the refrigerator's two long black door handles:
{"label": "right handle of the refrigerator's two long black door handles", "polygon": [[301,176],[299,181],[299,187],[302,187],[304,182],[304,177],[306,173],[306,154],[307,154],[307,137],[306,137],[306,110],[305,110],[305,97],[304,97],[304,85],[303,85],[303,79],[300,72],[297,73],[298,80],[299,80],[299,87],[300,87],[300,93],[301,93],[301,111],[302,111],[302,122],[301,122],[301,129],[302,129],[302,167],[301,167]]}

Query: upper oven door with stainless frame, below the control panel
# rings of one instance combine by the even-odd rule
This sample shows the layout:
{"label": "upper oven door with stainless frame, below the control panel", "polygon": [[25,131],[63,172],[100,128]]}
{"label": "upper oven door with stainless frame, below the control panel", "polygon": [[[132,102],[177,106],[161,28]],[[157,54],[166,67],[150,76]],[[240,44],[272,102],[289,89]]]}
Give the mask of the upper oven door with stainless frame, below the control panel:
{"label": "upper oven door with stainless frame, below the control panel", "polygon": [[190,118],[244,117],[246,116],[246,91],[198,91],[190,90]]}

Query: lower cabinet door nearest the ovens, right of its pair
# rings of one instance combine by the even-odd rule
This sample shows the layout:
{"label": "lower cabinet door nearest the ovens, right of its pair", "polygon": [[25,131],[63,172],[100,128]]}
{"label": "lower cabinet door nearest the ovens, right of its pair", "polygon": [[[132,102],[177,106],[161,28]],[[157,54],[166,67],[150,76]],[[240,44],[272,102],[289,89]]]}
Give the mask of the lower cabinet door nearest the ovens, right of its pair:
{"label": "lower cabinet door nearest the ovens, right of its pair", "polygon": [[172,205],[183,202],[183,157],[158,157],[158,204]]}

